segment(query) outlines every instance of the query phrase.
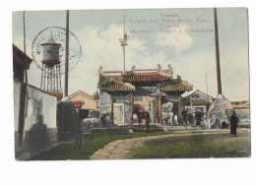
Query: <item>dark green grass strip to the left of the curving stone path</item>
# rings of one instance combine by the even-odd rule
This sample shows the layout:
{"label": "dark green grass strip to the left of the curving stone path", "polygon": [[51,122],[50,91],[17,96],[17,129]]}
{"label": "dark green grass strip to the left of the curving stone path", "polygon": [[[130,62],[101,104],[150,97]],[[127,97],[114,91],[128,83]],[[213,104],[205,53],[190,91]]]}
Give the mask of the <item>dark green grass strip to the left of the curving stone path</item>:
{"label": "dark green grass strip to the left of the curving stone path", "polygon": [[89,159],[97,150],[103,148],[112,141],[153,135],[164,135],[166,132],[154,130],[151,132],[135,131],[130,134],[128,130],[115,130],[113,132],[94,131],[84,137],[83,148],[76,148],[74,144],[63,144],[53,150],[32,157],[30,160],[65,160],[65,159]]}

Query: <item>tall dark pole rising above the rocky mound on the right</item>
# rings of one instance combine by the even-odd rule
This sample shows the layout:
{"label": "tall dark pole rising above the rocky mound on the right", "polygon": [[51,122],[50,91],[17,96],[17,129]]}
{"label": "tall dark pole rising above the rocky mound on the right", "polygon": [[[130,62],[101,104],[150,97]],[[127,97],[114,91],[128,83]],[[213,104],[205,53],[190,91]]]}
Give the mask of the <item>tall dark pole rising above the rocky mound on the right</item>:
{"label": "tall dark pole rising above the rocky mound on the right", "polygon": [[222,77],[221,77],[221,65],[220,65],[220,51],[219,51],[218,20],[217,20],[217,9],[216,8],[215,8],[215,43],[216,43],[218,94],[223,94],[223,91],[222,91]]}

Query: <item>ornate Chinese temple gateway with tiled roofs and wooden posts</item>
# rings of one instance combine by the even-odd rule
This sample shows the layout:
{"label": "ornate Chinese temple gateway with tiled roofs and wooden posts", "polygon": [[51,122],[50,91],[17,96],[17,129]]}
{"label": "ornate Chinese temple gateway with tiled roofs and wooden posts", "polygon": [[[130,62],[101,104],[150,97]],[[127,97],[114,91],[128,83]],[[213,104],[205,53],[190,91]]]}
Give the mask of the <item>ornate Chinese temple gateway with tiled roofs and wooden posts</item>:
{"label": "ornate Chinese temple gateway with tiled roofs and wooden posts", "polygon": [[[129,111],[129,123],[133,127],[134,103],[144,106],[145,111],[151,114],[151,120],[162,124],[161,105],[164,102],[177,102],[178,115],[181,115],[181,94],[193,90],[193,86],[172,77],[172,68],[167,70],[148,69],[132,71],[102,71],[99,69],[98,89],[100,93],[107,93],[109,98],[100,96],[101,108],[109,102],[113,121],[114,103],[124,103],[129,109],[124,108],[124,112]],[[141,101],[141,102],[140,102]],[[101,109],[102,110],[102,109]],[[106,109],[104,109],[106,110]],[[124,113],[125,115],[125,113]]]}

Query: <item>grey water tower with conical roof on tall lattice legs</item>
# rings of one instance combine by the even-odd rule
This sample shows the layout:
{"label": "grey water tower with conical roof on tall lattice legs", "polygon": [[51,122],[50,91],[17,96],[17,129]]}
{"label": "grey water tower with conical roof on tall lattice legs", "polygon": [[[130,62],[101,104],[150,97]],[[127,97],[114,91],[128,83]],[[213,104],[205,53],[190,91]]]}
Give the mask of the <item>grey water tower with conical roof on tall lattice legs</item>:
{"label": "grey water tower with conical roof on tall lattice legs", "polygon": [[57,43],[52,33],[47,42],[42,43],[42,74],[41,90],[57,96],[58,100],[62,98],[59,48],[61,44]]}

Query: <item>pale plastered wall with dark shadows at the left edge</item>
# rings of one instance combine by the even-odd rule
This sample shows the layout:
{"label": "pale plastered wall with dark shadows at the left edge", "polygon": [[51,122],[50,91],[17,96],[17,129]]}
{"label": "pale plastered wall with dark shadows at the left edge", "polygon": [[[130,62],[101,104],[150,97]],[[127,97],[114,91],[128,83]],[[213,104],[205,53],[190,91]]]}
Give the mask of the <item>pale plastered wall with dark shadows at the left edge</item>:
{"label": "pale plastered wall with dark shadows at the left edge", "polygon": [[15,155],[35,155],[57,142],[57,98],[14,80]]}

